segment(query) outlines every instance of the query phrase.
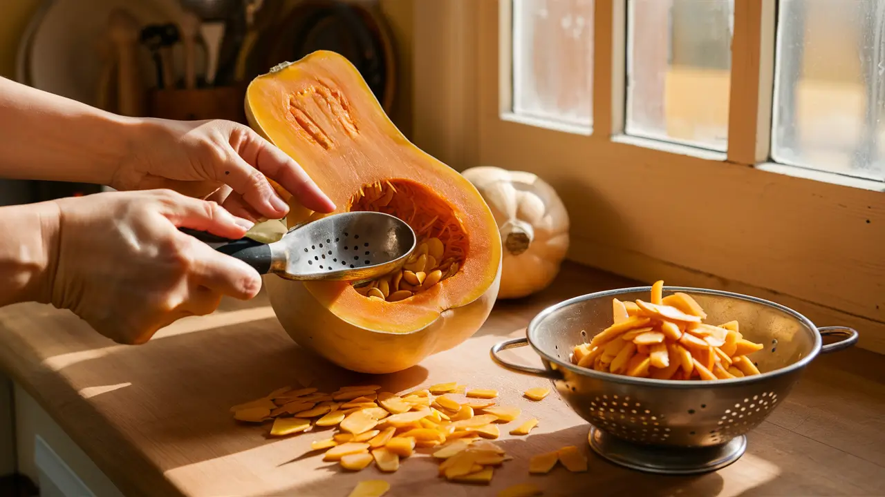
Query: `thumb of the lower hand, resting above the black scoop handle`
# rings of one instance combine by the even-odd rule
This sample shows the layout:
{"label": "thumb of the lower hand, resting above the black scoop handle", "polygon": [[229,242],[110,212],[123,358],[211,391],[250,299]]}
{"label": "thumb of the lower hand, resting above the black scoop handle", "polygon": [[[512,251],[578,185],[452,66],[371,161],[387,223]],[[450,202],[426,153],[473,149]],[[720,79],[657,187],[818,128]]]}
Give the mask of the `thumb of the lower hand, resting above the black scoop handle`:
{"label": "thumb of the lower hand, resting above the black scoop handle", "polygon": [[239,240],[254,226],[250,220],[237,218],[218,203],[172,191],[165,195],[162,214],[176,227],[192,228]]}

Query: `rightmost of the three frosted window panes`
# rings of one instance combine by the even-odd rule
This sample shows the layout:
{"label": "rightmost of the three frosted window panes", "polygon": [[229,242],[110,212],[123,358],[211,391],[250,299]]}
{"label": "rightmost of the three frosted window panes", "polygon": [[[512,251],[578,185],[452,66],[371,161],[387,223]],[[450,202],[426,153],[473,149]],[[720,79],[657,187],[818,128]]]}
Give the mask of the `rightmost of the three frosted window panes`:
{"label": "rightmost of the three frosted window panes", "polygon": [[781,0],[772,157],[885,180],[885,1]]}

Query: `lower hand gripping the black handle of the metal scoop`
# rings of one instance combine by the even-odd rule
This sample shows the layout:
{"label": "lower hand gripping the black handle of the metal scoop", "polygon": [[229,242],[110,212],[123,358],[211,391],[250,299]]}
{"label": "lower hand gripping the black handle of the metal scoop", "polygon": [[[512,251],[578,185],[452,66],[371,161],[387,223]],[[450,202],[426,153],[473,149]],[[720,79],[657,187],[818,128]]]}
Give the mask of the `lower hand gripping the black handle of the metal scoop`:
{"label": "lower hand gripping the black handle of the metal scoop", "polygon": [[58,201],[51,302],[119,343],[143,343],[176,319],[209,314],[222,295],[249,299],[258,272],[178,231],[239,239],[250,228],[217,203],[170,190]]}

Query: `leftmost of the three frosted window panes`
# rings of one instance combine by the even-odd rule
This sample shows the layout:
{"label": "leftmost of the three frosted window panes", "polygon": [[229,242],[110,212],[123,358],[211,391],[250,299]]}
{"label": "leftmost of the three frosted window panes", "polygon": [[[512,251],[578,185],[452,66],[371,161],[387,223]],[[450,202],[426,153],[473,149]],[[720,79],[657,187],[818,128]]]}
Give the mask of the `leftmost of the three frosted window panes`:
{"label": "leftmost of the three frosted window panes", "polygon": [[513,0],[513,112],[590,126],[593,0]]}

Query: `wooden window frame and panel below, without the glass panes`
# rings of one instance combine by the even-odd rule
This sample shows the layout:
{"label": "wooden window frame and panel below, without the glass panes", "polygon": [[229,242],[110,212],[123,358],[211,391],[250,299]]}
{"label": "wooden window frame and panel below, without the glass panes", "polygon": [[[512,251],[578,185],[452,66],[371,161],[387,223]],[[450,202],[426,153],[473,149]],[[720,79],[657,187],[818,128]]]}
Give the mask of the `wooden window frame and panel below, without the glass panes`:
{"label": "wooden window frame and panel below, without the glass panes", "polygon": [[550,181],[574,261],[752,294],[885,353],[885,185],[766,162],[774,0],[735,2],[725,154],[621,133],[626,1],[596,0],[589,135],[507,114],[511,0],[416,2],[414,141]]}

